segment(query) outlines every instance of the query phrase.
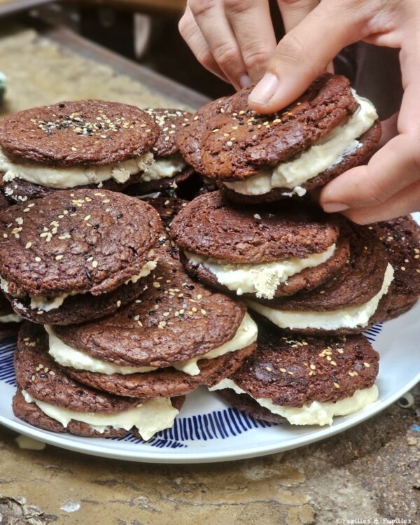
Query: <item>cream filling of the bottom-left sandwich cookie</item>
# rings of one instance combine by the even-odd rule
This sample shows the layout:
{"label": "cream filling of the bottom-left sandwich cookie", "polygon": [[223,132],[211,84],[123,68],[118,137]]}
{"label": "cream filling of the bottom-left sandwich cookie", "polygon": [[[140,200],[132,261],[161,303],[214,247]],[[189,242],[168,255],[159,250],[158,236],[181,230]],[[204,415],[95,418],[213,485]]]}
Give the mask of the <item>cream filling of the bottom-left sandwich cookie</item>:
{"label": "cream filling of the bottom-left sandwich cookie", "polygon": [[22,395],[27,403],[35,403],[48,417],[55,419],[66,428],[70,421],[86,423],[93,430],[103,434],[109,427],[131,430],[134,426],[144,440],[150,440],[155,433],[174,424],[179,410],[172,406],[169,398],[152,398],[137,405],[137,407],[118,412],[117,414],[95,414],[94,412],[73,412],[66,408],[50,405],[33,398],[25,390]]}

